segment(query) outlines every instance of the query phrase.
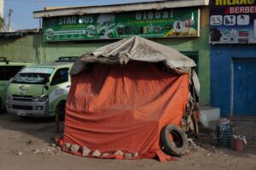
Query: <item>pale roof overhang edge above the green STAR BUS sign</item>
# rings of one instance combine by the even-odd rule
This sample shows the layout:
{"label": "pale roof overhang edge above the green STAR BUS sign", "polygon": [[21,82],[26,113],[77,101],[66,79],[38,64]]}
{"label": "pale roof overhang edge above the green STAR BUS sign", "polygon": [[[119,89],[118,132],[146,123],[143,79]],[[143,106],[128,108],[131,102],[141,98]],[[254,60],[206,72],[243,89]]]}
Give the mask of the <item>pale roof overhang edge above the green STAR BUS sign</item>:
{"label": "pale roof overhang edge above the green STAR BUS sign", "polygon": [[163,9],[163,8],[182,8],[207,6],[209,0],[170,0],[170,1],[155,1],[143,3],[125,3],[104,6],[84,6],[71,8],[53,8],[49,10],[34,11],[34,18],[65,16],[65,15],[83,15],[83,14],[100,14],[100,13],[120,13],[127,11]]}

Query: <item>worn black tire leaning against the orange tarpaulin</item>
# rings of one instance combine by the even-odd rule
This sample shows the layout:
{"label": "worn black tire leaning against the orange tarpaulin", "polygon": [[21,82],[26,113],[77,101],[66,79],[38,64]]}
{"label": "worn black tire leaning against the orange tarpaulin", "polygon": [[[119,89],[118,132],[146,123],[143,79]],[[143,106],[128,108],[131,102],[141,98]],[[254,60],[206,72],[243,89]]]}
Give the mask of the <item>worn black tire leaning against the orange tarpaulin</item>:
{"label": "worn black tire leaning against the orange tarpaulin", "polygon": [[167,155],[181,156],[187,151],[188,140],[180,127],[166,125],[160,133],[160,145]]}

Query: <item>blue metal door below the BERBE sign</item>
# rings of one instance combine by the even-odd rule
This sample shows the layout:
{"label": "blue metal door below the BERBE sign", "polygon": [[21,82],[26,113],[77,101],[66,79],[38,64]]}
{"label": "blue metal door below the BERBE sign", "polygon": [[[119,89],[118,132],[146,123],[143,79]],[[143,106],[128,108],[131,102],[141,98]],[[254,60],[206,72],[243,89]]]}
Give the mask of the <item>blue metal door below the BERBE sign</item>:
{"label": "blue metal door below the BERBE sign", "polygon": [[234,116],[256,116],[256,59],[234,61]]}

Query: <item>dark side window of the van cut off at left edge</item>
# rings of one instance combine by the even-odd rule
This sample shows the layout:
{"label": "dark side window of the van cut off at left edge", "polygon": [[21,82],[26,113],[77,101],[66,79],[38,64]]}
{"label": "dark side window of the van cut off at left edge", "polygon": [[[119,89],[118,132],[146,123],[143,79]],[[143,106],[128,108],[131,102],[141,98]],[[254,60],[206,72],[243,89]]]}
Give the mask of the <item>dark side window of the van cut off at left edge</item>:
{"label": "dark side window of the van cut off at left edge", "polygon": [[15,77],[22,67],[24,65],[0,66],[0,81],[9,81],[10,77]]}

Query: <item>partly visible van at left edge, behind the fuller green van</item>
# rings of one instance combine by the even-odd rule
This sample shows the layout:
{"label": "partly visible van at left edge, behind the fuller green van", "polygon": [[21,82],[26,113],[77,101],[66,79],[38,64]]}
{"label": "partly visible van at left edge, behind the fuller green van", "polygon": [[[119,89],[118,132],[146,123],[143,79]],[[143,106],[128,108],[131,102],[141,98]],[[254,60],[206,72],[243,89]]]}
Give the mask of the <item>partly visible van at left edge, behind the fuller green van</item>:
{"label": "partly visible van at left edge, behind the fuller green van", "polygon": [[0,110],[5,109],[6,89],[12,77],[26,65],[25,62],[11,62],[5,57],[0,57]]}

